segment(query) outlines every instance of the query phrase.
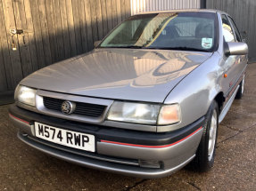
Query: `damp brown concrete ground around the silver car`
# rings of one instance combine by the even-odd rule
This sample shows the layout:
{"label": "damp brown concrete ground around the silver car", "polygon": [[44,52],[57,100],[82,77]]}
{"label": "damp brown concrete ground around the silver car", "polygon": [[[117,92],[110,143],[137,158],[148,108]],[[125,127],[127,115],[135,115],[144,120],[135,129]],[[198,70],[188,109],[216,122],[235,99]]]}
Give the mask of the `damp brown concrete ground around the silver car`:
{"label": "damp brown concrete ground around the silver car", "polygon": [[45,155],[16,138],[8,106],[0,107],[0,190],[255,190],[256,63],[247,69],[244,97],[219,126],[214,168],[183,169],[163,179],[95,171]]}

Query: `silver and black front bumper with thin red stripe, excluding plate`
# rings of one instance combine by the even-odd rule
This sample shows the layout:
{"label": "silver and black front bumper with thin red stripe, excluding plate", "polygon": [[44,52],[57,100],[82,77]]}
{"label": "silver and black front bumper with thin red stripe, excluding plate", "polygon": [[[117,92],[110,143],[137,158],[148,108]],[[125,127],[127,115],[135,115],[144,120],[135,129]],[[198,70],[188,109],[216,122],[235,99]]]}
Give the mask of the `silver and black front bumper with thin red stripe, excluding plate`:
{"label": "silver and black front bumper with thin red stripe, excluding plate", "polygon": [[[204,122],[202,117],[181,130],[160,133],[71,122],[40,115],[14,104],[9,113],[12,123],[20,128],[19,139],[31,147],[71,163],[146,179],[167,176],[189,163],[202,138]],[[95,135],[95,153],[38,139],[35,122]],[[159,163],[159,166],[151,163]]]}

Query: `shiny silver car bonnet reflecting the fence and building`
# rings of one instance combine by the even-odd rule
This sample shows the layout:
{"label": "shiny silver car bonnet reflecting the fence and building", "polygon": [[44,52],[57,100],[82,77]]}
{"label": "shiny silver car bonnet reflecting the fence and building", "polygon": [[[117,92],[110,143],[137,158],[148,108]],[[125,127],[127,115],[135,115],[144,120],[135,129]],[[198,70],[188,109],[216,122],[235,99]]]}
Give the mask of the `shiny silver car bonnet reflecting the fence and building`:
{"label": "shiny silver car bonnet reflecting the fence and building", "polygon": [[81,96],[161,103],[210,52],[95,49],[42,68],[21,84]]}

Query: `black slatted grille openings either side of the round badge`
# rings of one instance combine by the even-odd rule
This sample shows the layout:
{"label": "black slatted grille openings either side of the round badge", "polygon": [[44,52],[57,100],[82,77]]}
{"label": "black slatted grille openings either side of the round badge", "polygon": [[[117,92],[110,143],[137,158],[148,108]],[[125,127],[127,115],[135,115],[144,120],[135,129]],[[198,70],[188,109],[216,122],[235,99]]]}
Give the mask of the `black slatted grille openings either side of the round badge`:
{"label": "black slatted grille openings either side of the round badge", "polygon": [[[65,100],[44,97],[45,107],[48,109],[53,109],[55,111],[62,112],[61,107],[62,107],[63,101],[65,101]],[[103,112],[106,108],[106,106],[103,106],[103,105],[82,103],[82,102],[76,102],[76,101],[74,101],[74,102],[76,103],[76,110],[73,112],[73,114],[77,114],[77,115],[100,117],[103,115]]]}

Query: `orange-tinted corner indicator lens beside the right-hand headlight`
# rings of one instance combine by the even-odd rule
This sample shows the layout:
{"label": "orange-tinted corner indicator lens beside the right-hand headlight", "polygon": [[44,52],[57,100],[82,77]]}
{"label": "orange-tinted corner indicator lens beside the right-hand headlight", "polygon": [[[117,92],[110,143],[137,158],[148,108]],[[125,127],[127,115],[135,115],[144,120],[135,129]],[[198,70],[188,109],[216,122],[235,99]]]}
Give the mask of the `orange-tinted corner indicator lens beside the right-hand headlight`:
{"label": "orange-tinted corner indicator lens beside the right-hand headlight", "polygon": [[158,116],[158,124],[173,124],[181,121],[181,112],[178,104],[165,105],[161,107]]}

